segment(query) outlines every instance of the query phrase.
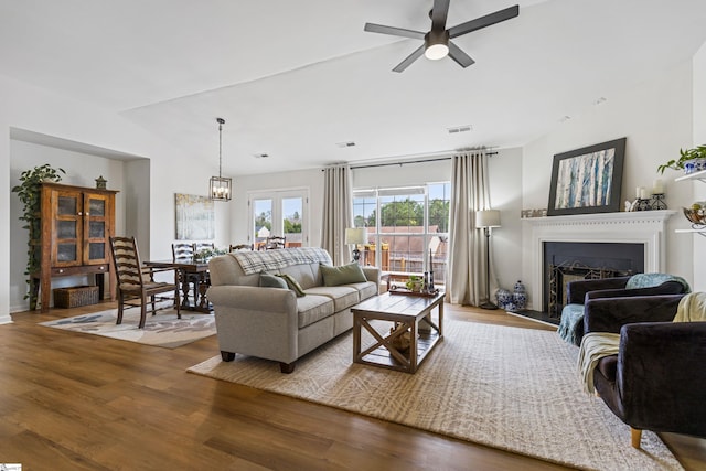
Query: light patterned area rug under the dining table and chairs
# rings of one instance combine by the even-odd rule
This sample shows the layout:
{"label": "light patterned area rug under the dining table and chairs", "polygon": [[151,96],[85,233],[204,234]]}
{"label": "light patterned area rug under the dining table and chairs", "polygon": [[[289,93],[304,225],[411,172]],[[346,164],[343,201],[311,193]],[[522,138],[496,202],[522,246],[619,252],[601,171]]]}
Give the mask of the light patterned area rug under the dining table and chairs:
{"label": "light patterned area rug under the dining table and chairs", "polygon": [[109,336],[146,345],[163,346],[165,349],[175,349],[216,333],[213,314],[181,311],[181,319],[176,319],[176,311],[174,310],[158,311],[156,315],[148,312],[145,328],[138,329],[140,321],[139,309],[126,310],[120,324],[115,323],[117,313],[117,309],[110,309],[41,322],[40,325]]}

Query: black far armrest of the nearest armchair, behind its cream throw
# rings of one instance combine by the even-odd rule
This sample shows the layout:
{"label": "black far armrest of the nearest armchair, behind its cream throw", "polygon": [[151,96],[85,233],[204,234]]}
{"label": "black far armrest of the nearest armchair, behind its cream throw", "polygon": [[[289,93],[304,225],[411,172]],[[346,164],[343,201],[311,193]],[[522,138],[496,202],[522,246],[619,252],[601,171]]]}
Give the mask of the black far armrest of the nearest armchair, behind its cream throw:
{"label": "black far armrest of the nearest armchair, behind its cream throw", "polygon": [[684,295],[587,299],[584,331],[620,333],[634,322],[671,322]]}

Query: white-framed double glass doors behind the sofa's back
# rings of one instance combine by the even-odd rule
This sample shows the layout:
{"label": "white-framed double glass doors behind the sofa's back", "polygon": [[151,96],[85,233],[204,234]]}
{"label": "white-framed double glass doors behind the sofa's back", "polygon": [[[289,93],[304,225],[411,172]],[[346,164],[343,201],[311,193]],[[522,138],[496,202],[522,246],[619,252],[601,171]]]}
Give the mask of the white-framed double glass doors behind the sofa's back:
{"label": "white-framed double glass doors behind the sofa's back", "polygon": [[256,248],[270,235],[285,236],[286,247],[301,247],[309,243],[304,218],[309,205],[307,190],[269,191],[248,194],[250,235]]}

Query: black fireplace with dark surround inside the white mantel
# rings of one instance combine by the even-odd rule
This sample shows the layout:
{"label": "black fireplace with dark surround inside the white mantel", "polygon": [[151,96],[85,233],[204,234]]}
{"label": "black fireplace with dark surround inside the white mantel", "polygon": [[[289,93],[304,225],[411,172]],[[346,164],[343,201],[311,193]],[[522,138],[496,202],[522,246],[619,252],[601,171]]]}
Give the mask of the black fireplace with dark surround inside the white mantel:
{"label": "black fireplace with dark surround inside the white mantel", "polygon": [[566,285],[581,279],[622,277],[644,271],[644,244],[545,242],[543,312],[559,319]]}

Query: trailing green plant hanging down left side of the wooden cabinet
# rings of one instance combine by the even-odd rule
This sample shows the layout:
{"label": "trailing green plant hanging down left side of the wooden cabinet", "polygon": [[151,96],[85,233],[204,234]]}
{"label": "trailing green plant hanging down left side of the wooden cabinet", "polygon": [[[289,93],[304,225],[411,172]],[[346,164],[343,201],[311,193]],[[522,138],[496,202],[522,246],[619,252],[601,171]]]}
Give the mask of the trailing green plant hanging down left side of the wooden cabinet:
{"label": "trailing green plant hanging down left side of the wooden cabinet", "polygon": [[24,207],[20,221],[24,221],[26,224],[23,228],[30,232],[28,240],[28,260],[24,275],[28,277],[26,282],[30,286],[29,292],[24,296],[24,299],[30,299],[30,307],[36,306],[36,290],[33,287],[32,274],[40,269],[40,250],[41,250],[41,192],[42,182],[58,182],[62,180],[62,175],[66,174],[64,169],[54,169],[49,163],[35,167],[31,170],[25,170],[20,174],[19,185],[12,189],[13,193],[17,193]]}

